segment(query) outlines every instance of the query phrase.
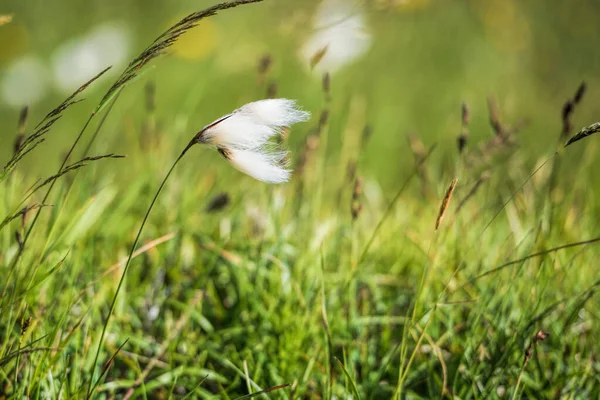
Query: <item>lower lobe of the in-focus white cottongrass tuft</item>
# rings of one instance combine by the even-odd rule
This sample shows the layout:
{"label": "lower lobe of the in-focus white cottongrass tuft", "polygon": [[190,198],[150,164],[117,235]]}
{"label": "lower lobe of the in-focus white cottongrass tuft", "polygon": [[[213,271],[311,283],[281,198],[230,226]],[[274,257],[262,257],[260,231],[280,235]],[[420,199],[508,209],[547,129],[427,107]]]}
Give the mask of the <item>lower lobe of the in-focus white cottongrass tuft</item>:
{"label": "lower lobe of the in-focus white cottongrass tuft", "polygon": [[292,171],[282,166],[286,153],[229,149],[227,159],[239,171],[266,183],[284,183]]}

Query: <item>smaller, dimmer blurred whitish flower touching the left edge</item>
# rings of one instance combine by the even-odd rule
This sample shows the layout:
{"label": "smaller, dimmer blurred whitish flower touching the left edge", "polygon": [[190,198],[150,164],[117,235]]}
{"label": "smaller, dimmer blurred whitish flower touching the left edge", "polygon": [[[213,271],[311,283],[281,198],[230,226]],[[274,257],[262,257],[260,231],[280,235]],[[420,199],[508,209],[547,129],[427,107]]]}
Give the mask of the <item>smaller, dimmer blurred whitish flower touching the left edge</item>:
{"label": "smaller, dimmer blurred whitish flower touching the left edge", "polygon": [[13,107],[31,105],[48,90],[48,71],[34,56],[15,60],[2,74],[2,100]]}

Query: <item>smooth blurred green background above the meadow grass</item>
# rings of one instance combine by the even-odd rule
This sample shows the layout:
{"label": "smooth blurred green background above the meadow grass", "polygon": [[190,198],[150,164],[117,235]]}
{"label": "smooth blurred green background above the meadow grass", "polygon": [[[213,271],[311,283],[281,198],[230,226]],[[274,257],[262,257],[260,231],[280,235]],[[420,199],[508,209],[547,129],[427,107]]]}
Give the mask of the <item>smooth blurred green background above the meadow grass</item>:
{"label": "smooth blurred green background above the meadow grass", "polygon": [[[21,105],[31,107],[31,128],[77,84],[115,63],[112,75],[86,93],[88,101],[69,110],[46,151],[27,159],[34,174],[49,165],[54,169],[59,157],[52,155],[72,141],[123,66],[178,18],[212,4],[3,1],[0,14],[13,19],[0,27],[0,160],[12,151]],[[319,18],[335,21],[332,15],[341,16],[339,23],[319,26]],[[452,157],[462,102],[471,109],[471,143],[489,137],[488,96],[497,99],[507,124],[528,121],[519,144],[539,160],[557,146],[560,110],[581,81],[588,91],[576,109],[575,129],[600,115],[598,15],[600,2],[593,0],[266,0],[240,7],[203,21],[128,87],[95,152],[135,153],[147,81],[156,84],[156,116],[170,148],[212,119],[264,97],[270,82],[277,83],[279,96],[297,98],[318,115],[327,69],[332,160],[344,137],[360,134],[368,123],[374,135],[362,169],[384,186],[395,184],[412,165],[407,133],[418,133],[426,144],[440,143]],[[344,26],[342,32],[311,70],[307,43],[336,24]],[[353,51],[360,54],[352,57]],[[327,59],[336,52],[342,58],[349,52],[349,59],[337,64]],[[257,69],[265,55],[272,65],[260,82]],[[294,132],[292,150],[308,131]]]}

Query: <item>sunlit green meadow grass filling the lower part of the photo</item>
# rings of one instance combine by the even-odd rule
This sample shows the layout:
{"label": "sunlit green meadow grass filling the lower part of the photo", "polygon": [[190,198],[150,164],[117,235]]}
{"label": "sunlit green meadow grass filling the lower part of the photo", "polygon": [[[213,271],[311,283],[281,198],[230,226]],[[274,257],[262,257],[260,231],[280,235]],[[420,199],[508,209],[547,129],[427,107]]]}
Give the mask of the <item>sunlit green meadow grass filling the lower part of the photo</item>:
{"label": "sunlit green meadow grass filling the lower part of the photo", "polygon": [[[277,90],[265,63],[251,89],[260,97]],[[132,81],[128,71],[115,85]],[[313,119],[283,138],[291,182],[257,183],[194,148],[127,274],[148,205],[198,129],[159,126],[171,120],[153,86],[131,117],[141,82],[133,93],[107,86],[96,108],[63,102],[62,118],[92,112],[68,153],[81,161],[56,154],[61,167],[36,183],[9,159],[0,181],[1,396],[598,397],[595,121],[575,132],[563,113],[561,130],[557,110],[559,150],[534,156],[493,99],[483,140],[457,107],[458,146],[411,139],[402,156],[414,165],[386,190],[364,154],[389,133],[346,107],[329,75],[321,83],[302,104]],[[64,126],[49,128],[51,141]],[[112,157],[110,141],[95,142],[109,130],[129,141],[127,158],[89,155]]]}

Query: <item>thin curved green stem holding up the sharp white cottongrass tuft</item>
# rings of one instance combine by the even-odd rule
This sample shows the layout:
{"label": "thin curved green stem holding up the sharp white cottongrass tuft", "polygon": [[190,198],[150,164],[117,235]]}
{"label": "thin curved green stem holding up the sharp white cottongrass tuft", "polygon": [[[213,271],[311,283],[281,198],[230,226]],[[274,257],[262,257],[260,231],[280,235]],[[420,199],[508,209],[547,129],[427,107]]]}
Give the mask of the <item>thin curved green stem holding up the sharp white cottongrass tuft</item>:
{"label": "thin curved green stem holding up the sharp white cottongrass tuft", "polygon": [[106,335],[106,329],[108,327],[108,323],[110,322],[110,317],[112,316],[112,314],[114,312],[115,305],[117,303],[117,297],[119,296],[119,292],[121,291],[121,287],[123,286],[123,282],[125,281],[125,275],[127,274],[127,270],[129,269],[129,264],[131,263],[131,259],[133,258],[133,253],[135,252],[135,248],[140,240],[140,236],[142,235],[142,231],[144,230],[146,221],[148,220],[148,217],[150,216],[150,212],[152,211],[152,208],[154,207],[154,203],[156,203],[156,200],[158,199],[160,192],[162,191],[163,187],[167,183],[167,180],[171,176],[171,173],[173,172],[173,170],[175,169],[175,167],[177,166],[179,161],[181,161],[181,159],[183,158],[185,153],[187,153],[188,150],[195,143],[196,142],[194,140],[192,140],[190,143],[188,143],[188,145],[185,147],[185,149],[183,149],[183,151],[181,152],[179,157],[177,157],[177,159],[175,160],[173,165],[171,165],[169,172],[167,172],[167,175],[165,175],[163,181],[161,182],[160,186],[158,187],[158,190],[156,191],[156,194],[154,195],[154,198],[152,199],[152,202],[150,203],[150,206],[148,207],[148,210],[146,211],[146,215],[144,216],[144,219],[142,220],[142,224],[140,225],[140,229],[137,232],[135,240],[133,241],[133,244],[131,245],[131,249],[129,249],[129,256],[127,257],[127,261],[125,262],[125,267],[123,268],[123,273],[121,274],[121,278],[119,279],[119,283],[117,285],[117,290],[115,291],[115,295],[113,296],[112,302],[110,304],[110,309],[108,311],[108,315],[106,316],[106,321],[104,321],[104,326],[102,327],[102,334],[100,335],[100,342],[98,343],[98,349],[96,350],[96,356],[94,357],[94,363],[92,364],[92,371],[90,374],[89,386],[88,386],[88,391],[87,391],[87,396],[86,396],[88,399],[91,398],[92,392],[94,391],[94,389],[96,388],[98,383],[100,383],[101,377],[98,378],[98,382],[94,383],[94,373],[96,371],[96,364],[98,363],[98,358],[100,357],[100,351],[102,349],[102,344],[104,343],[104,336]]}

